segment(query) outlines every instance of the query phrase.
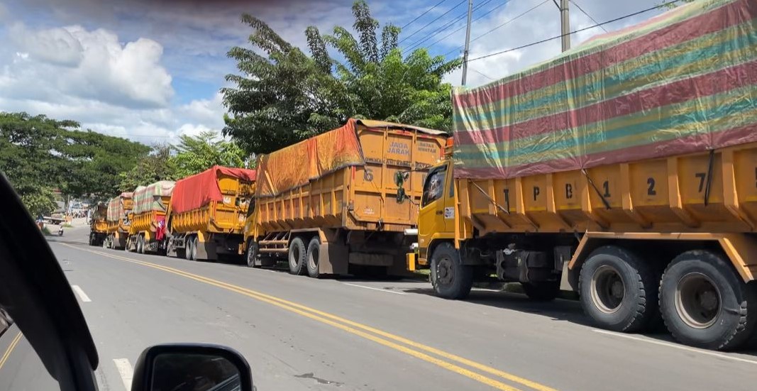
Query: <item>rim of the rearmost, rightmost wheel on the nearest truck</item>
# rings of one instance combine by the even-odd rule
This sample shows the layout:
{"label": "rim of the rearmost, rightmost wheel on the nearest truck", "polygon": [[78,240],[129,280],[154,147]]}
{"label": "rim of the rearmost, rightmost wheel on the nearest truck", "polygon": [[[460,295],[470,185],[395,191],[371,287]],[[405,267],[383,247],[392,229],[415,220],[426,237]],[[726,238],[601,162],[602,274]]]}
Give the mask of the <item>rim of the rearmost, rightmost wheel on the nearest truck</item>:
{"label": "rim of the rearmost, rightmost wheel on the nearest truck", "polygon": [[681,321],[695,329],[715,324],[722,308],[718,287],[701,273],[686,274],[678,280],[674,302]]}

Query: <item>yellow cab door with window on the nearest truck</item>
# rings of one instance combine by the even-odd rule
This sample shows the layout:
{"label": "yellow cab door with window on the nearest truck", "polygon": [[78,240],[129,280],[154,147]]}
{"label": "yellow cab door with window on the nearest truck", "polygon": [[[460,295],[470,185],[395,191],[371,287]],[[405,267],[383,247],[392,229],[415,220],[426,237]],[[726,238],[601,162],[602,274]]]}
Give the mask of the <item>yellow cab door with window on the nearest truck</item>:
{"label": "yellow cab door with window on the nearest truck", "polygon": [[450,199],[447,196],[449,187],[447,164],[428,170],[428,175],[423,183],[423,195],[418,213],[418,245],[422,249],[428,247],[435,233],[446,230],[444,207],[445,201]]}

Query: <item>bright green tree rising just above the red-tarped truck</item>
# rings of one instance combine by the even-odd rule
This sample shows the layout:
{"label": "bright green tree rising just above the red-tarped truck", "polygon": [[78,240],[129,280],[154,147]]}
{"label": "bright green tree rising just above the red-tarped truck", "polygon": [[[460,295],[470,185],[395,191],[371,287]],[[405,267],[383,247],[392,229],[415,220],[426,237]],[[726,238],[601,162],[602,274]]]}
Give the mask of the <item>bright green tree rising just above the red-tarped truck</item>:
{"label": "bright green tree rising just above the red-tarped truck", "polygon": [[222,139],[218,133],[202,132],[197,136],[181,136],[170,160],[176,177],[198,174],[214,165],[244,167],[245,152],[235,143]]}

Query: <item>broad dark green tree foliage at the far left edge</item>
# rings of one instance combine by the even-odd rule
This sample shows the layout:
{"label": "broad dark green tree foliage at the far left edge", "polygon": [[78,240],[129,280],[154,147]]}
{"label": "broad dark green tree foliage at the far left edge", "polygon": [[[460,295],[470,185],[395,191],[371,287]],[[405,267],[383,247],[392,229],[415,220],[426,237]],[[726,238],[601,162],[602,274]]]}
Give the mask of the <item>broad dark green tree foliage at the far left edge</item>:
{"label": "broad dark green tree foliage at the far left edge", "polygon": [[63,196],[112,196],[118,173],[148,151],[138,142],[79,130],[73,120],[0,113],[0,171],[35,214],[55,208],[53,189]]}

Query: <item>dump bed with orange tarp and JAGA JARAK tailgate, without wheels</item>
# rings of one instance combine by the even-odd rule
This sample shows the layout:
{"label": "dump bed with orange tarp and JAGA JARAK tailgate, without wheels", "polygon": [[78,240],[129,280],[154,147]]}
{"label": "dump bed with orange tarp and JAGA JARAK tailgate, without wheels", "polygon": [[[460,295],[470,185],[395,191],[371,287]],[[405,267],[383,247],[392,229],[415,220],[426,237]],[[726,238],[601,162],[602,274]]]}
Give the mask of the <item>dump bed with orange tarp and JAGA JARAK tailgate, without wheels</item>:
{"label": "dump bed with orange tarp and JAGA JARAK tailgate, without wheels", "polygon": [[[446,138],[435,130],[350,120],[263,156],[256,196],[261,233],[415,227],[425,169],[439,161]],[[413,172],[406,190],[413,202],[397,203],[394,176],[408,170]]]}

